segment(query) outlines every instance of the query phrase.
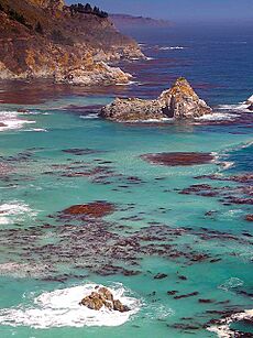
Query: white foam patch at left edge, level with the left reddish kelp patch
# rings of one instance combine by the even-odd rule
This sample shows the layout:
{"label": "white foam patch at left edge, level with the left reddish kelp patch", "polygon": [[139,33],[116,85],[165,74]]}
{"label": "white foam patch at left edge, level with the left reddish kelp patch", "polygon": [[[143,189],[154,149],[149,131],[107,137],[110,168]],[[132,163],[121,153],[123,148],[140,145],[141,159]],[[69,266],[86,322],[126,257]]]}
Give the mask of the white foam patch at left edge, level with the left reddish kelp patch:
{"label": "white foam patch at left edge, level with the left reddish kelp patch", "polygon": [[0,225],[19,222],[28,219],[28,217],[33,218],[34,216],[36,216],[36,211],[19,200],[0,205]]}

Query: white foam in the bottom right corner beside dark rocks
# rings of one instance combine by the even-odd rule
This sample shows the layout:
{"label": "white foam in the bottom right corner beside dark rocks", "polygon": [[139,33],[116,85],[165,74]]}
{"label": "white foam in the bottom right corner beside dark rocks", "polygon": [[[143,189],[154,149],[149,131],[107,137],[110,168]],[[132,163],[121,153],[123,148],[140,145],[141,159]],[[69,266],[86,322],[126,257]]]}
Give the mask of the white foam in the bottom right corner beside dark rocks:
{"label": "white foam in the bottom right corner beside dark rocks", "polygon": [[219,320],[220,325],[211,326],[208,331],[217,334],[220,338],[232,338],[234,337],[234,331],[230,329],[232,323],[237,323],[243,319],[253,319],[253,309],[246,309],[243,313],[233,314],[230,317]]}

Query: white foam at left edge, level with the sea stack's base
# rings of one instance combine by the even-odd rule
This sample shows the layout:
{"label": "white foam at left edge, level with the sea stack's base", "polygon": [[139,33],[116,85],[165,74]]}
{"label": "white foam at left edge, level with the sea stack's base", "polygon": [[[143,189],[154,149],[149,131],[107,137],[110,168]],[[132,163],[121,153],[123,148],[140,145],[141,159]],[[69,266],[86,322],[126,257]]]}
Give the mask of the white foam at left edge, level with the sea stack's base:
{"label": "white foam at left edge, level with the sea stack's base", "polygon": [[0,132],[6,130],[21,129],[24,124],[35,123],[35,121],[23,119],[21,116],[28,115],[28,112],[18,111],[0,111],[0,123],[4,126],[0,127]]}

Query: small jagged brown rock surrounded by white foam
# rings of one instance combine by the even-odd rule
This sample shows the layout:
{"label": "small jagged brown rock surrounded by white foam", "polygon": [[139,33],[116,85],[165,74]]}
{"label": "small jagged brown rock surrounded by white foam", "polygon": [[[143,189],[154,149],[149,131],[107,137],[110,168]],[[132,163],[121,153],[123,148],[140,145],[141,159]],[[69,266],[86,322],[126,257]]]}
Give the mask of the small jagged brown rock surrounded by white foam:
{"label": "small jagged brown rock surrounded by white foam", "polygon": [[130,310],[130,308],[123,305],[119,299],[114,301],[112,293],[105,286],[96,287],[96,292],[91,292],[91,294],[81,299],[79,304],[96,310],[101,309],[102,306],[120,313]]}

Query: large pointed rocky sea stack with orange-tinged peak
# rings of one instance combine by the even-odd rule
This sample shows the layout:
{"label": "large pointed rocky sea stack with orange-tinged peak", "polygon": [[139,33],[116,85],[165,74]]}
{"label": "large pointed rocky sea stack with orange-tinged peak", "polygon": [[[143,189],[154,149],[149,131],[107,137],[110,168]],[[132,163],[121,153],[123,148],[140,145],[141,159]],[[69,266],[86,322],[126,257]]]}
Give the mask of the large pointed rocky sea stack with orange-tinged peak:
{"label": "large pointed rocky sea stack with orange-tinged peak", "polygon": [[100,116],[112,121],[132,122],[193,119],[211,112],[212,109],[197,96],[189,83],[179,77],[170,89],[164,90],[155,100],[117,98],[101,109]]}

